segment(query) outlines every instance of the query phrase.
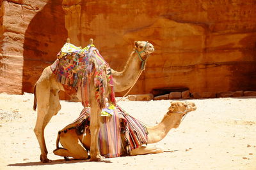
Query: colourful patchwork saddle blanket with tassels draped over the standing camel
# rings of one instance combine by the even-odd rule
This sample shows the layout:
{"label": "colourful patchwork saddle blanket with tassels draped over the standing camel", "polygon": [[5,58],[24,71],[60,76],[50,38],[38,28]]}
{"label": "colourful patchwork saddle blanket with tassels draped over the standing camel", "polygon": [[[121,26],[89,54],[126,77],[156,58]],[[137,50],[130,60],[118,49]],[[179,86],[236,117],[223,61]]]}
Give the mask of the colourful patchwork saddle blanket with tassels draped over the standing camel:
{"label": "colourful patchwork saddle blanket with tassels draped over the standing camel", "polygon": [[95,96],[100,108],[106,108],[106,97],[109,103],[115,104],[111,68],[94,45],[82,49],[71,43],[65,43],[51,69],[56,74],[57,81],[63,85],[82,87],[84,107],[89,107],[91,80],[94,83]]}

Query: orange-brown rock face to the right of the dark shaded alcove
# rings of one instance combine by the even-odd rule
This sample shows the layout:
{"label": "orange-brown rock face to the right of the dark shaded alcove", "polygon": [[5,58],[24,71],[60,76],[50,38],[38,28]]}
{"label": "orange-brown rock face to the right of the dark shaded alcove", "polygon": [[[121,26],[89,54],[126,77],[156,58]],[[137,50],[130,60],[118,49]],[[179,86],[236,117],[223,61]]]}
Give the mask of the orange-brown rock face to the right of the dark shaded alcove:
{"label": "orange-brown rock face to the right of the dark shaded alcove", "polygon": [[[81,46],[95,39],[113,69],[122,70],[134,40],[155,46],[132,93],[166,87],[191,92],[256,88],[255,1],[65,3],[72,11],[65,17],[69,37]],[[76,12],[80,19],[71,19]]]}

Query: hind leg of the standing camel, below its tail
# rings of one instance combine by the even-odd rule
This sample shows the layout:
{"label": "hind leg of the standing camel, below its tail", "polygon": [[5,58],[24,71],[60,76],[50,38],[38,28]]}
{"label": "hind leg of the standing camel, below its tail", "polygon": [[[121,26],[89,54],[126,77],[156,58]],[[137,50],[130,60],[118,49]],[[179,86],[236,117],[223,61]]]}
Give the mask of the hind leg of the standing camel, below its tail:
{"label": "hind leg of the standing camel, below its tail", "polygon": [[45,145],[44,129],[53,115],[60,110],[58,89],[51,89],[51,81],[45,80],[36,82],[36,100],[38,104],[37,119],[34,132],[40,145],[42,162],[49,162],[47,159],[47,148]]}

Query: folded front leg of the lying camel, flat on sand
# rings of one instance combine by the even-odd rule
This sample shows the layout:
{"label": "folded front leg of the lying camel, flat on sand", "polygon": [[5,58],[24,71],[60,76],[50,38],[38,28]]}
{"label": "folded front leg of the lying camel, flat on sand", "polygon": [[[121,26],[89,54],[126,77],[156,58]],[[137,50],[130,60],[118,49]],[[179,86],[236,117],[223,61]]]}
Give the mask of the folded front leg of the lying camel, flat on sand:
{"label": "folded front leg of the lying camel, flat on sand", "polygon": [[163,153],[162,148],[157,148],[155,146],[141,146],[140,148],[136,148],[134,150],[131,150],[130,155],[136,156],[136,155],[145,155],[149,153]]}

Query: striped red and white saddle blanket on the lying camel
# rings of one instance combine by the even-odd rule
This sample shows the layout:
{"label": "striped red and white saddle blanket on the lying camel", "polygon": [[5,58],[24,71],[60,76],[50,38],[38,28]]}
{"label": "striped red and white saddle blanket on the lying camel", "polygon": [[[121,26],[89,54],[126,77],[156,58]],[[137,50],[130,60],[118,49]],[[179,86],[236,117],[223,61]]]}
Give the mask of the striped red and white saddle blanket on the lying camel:
{"label": "striped red and white saddle blanket on the lying camel", "polygon": [[[90,126],[90,108],[84,108],[80,116],[65,129],[74,125],[76,125],[77,131],[80,129],[85,132],[84,128]],[[124,141],[122,141],[121,135],[124,136]],[[122,154],[122,148],[129,153],[131,150],[147,144],[147,135],[147,127],[122,110],[120,106],[111,105],[102,110],[98,138],[100,155],[108,158],[119,157]]]}

